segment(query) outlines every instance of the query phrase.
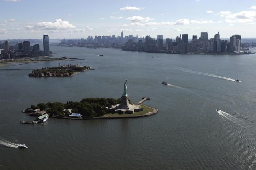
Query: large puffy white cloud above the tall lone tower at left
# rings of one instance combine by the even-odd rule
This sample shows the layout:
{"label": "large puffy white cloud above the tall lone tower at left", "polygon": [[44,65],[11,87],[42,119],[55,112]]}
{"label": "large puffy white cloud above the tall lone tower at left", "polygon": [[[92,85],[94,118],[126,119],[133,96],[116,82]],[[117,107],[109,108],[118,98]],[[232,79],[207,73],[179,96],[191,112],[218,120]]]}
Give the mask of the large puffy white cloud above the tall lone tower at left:
{"label": "large puffy white cloud above the tall lone tower at left", "polygon": [[35,27],[45,30],[65,30],[70,28],[76,28],[68,21],[63,21],[61,19],[56,19],[53,22],[39,22],[35,24]]}

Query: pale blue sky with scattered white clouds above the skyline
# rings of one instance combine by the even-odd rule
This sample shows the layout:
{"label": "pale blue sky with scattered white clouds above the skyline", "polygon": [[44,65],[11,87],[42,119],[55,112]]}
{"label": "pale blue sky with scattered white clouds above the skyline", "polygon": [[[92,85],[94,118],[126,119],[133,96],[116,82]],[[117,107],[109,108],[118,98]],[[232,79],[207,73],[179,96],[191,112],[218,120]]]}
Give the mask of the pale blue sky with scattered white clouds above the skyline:
{"label": "pale blue sky with scattered white clouds above the skyline", "polygon": [[256,37],[256,0],[0,0],[0,39]]}

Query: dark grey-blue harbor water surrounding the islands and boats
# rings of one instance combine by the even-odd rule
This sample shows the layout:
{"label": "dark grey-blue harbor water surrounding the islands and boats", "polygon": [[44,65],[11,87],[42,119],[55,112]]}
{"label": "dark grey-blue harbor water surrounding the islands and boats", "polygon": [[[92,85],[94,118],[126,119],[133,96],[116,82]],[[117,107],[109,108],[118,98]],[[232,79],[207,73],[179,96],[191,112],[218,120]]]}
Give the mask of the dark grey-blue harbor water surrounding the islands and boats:
{"label": "dark grey-blue harbor water surrounding the islands and boats", "polygon": [[[95,70],[67,78],[29,78],[27,70],[1,72],[0,169],[255,169],[256,54],[170,55],[58,46],[50,50],[58,57],[84,59],[81,65]],[[24,117],[34,119],[21,112],[30,104],[120,98],[125,79],[131,102],[150,96],[143,104],[158,108],[157,114],[19,123]],[[7,147],[10,142],[29,148]]]}

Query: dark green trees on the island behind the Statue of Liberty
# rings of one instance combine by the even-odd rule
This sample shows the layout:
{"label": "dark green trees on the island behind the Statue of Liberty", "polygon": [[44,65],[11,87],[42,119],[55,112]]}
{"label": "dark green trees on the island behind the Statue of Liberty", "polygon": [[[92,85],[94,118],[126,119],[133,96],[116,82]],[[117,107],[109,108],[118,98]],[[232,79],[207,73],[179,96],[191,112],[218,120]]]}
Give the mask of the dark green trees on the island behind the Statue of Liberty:
{"label": "dark green trees on the island behind the Statue of Liberty", "polygon": [[[102,116],[108,112],[107,107],[121,103],[121,98],[84,98],[80,102],[68,101],[66,104],[60,102],[39,103],[31,105],[31,109],[47,110],[49,115],[69,115],[65,109],[72,109],[72,113],[80,113],[83,117]],[[30,108],[27,108],[28,110]],[[25,110],[25,111],[26,111]]]}

